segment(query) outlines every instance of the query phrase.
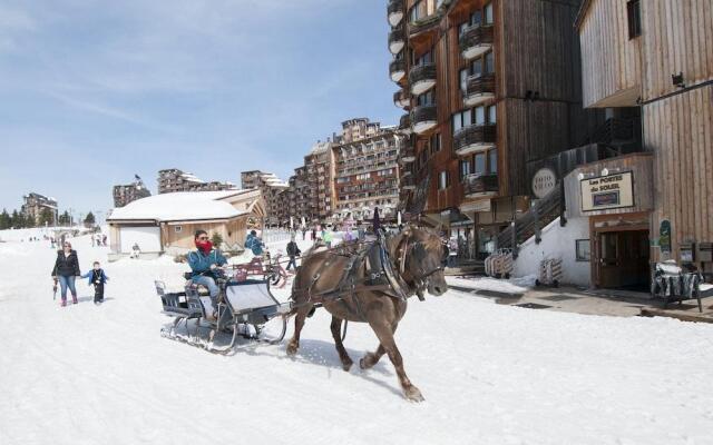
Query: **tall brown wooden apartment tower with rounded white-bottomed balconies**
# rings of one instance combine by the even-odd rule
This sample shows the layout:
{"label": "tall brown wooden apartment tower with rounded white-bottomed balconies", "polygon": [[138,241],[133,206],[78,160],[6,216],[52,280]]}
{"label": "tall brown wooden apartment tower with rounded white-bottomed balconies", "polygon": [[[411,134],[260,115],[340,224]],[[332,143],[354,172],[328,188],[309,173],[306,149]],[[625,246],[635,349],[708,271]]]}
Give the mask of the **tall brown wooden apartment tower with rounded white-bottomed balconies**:
{"label": "tall brown wooden apartment tower with rounded white-bottomed balconies", "polygon": [[[580,0],[391,0],[387,16],[407,113],[401,199],[411,217],[465,234],[485,257],[535,195],[529,165],[600,123],[583,110]],[[559,181],[561,178],[556,178]]]}

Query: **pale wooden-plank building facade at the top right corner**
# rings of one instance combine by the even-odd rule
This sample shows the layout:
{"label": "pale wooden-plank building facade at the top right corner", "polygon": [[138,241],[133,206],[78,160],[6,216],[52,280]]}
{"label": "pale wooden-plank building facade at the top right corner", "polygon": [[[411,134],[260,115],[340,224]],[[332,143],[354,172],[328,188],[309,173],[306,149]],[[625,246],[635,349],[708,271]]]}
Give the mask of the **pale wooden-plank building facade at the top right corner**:
{"label": "pale wooden-plank building facade at the top right corner", "polygon": [[713,3],[586,0],[576,29],[585,106],[641,113],[653,156],[651,261],[712,273]]}

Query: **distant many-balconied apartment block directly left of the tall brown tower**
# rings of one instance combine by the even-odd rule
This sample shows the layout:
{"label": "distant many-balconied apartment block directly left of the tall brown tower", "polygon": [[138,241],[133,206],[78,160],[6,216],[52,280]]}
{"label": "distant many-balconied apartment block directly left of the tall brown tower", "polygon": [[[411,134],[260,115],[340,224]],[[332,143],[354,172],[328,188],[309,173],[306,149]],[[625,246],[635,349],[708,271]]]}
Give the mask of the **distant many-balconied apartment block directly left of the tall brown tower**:
{"label": "distant many-balconied apartment block directly left of the tall brown tower", "polygon": [[387,219],[399,209],[399,147],[404,137],[369,119],[342,122],[334,138],[335,220],[370,219],[379,208]]}

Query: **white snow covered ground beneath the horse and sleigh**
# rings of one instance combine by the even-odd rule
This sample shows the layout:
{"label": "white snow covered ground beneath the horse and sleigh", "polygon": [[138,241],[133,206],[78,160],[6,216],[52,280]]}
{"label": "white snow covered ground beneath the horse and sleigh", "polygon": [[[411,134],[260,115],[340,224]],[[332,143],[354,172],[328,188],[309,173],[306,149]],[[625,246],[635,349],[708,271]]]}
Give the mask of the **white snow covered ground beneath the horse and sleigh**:
{"label": "white snow covered ground beneath the horse and sleigh", "polygon": [[[82,271],[99,259],[111,278],[102,306],[82,280],[60,308],[49,246],[0,243],[0,444],[711,443],[711,325],[414,300],[397,333],[427,399],[411,404],[387,358],[341,370],[323,312],[294,358],[284,344],[226,357],[162,338],[153,281],[179,286],[186,266],[74,245]],[[350,325],[352,358],[375,345]]]}

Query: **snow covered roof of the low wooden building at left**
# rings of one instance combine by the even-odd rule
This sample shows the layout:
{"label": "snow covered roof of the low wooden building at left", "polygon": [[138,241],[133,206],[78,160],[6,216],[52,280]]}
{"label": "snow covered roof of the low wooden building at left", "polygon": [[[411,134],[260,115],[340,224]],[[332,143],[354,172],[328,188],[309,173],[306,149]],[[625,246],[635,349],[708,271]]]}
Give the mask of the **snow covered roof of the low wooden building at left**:
{"label": "snow covered roof of the low wooden building at left", "polygon": [[187,221],[205,219],[229,219],[246,214],[227,202],[226,198],[245,190],[178,191],[137,199],[125,207],[116,208],[107,221],[155,220]]}

